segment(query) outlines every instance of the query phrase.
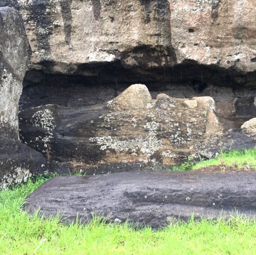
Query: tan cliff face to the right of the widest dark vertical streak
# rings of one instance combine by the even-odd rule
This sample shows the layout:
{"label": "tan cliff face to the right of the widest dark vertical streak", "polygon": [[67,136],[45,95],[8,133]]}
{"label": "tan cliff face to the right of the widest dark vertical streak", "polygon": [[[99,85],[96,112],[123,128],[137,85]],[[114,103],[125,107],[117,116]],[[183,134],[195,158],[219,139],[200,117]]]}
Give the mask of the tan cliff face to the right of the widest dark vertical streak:
{"label": "tan cliff face to the right of the widest dark vertical streak", "polygon": [[[186,59],[256,71],[255,0],[171,0],[172,45]],[[255,85],[254,80],[248,85]]]}

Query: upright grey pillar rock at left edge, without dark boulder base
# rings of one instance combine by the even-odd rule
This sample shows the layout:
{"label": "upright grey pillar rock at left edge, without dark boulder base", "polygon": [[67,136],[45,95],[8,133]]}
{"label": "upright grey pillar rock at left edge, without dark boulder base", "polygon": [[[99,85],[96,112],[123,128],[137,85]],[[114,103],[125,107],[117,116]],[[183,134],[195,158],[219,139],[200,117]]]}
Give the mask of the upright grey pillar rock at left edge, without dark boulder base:
{"label": "upright grey pillar rock at left edge, without dark boulder base", "polygon": [[0,8],[0,134],[18,139],[18,105],[31,49],[17,11]]}

